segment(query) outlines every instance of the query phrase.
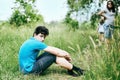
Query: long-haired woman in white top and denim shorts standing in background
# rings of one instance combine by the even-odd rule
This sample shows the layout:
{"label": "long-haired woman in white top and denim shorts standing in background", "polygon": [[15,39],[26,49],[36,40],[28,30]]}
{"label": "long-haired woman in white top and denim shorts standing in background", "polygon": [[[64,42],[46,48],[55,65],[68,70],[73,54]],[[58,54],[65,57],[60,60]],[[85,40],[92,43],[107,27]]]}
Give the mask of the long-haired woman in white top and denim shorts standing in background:
{"label": "long-haired woman in white top and denim shorts standing in background", "polygon": [[108,1],[106,5],[106,9],[101,10],[98,13],[98,15],[105,17],[104,37],[105,37],[105,43],[107,44],[107,47],[109,47],[114,31],[114,20],[115,20],[115,5],[113,1],[111,0]]}

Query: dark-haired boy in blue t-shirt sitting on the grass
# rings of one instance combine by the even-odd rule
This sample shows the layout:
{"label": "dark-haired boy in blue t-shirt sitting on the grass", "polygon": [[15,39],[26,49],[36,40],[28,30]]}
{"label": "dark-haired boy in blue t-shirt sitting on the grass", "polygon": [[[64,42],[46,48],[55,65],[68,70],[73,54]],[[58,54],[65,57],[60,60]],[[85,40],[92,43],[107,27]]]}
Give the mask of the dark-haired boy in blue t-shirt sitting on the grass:
{"label": "dark-haired boy in blue t-shirt sitting on the grass", "polygon": [[[33,37],[26,40],[19,50],[19,66],[23,74],[41,74],[52,63],[68,70],[71,76],[83,75],[83,70],[71,64],[70,54],[56,47],[48,46],[44,43],[49,35],[49,30],[44,26],[38,26]],[[44,50],[40,56],[39,52]]]}

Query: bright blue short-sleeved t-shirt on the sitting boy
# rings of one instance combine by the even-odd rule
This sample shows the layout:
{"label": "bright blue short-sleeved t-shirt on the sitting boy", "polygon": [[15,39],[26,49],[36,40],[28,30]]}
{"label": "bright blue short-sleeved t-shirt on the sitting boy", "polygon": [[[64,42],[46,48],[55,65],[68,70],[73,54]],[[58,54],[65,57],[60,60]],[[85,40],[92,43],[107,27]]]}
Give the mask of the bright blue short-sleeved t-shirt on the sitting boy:
{"label": "bright blue short-sleeved t-shirt on the sitting boy", "polygon": [[47,45],[45,43],[36,40],[34,37],[25,41],[19,51],[20,71],[29,73],[33,68],[34,62],[36,62],[40,50],[43,50],[46,47]]}

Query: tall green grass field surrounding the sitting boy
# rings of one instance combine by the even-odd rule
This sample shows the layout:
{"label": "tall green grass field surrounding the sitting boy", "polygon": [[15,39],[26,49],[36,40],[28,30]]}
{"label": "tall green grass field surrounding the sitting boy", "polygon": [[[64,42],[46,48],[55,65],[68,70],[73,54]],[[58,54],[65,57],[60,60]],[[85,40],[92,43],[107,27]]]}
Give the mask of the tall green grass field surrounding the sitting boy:
{"label": "tall green grass field surrounding the sitting boy", "polygon": [[120,80],[119,30],[115,32],[112,48],[108,52],[105,45],[94,47],[98,44],[95,30],[69,31],[69,28],[62,24],[46,25],[50,35],[45,43],[68,51],[72,56],[72,63],[87,70],[86,74],[74,78],[56,64],[40,76],[21,74],[18,51],[21,44],[32,36],[35,27],[31,26],[0,26],[0,80]]}

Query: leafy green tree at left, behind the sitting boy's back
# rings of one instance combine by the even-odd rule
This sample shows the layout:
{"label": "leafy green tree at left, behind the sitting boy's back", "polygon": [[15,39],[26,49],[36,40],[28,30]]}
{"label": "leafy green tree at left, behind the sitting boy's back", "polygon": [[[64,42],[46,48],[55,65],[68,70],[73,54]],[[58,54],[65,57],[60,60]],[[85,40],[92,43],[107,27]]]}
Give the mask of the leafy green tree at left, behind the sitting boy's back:
{"label": "leafy green tree at left, behind the sitting boy's back", "polygon": [[13,14],[9,19],[10,24],[21,26],[31,22],[44,22],[42,15],[34,9],[35,0],[16,0]]}

